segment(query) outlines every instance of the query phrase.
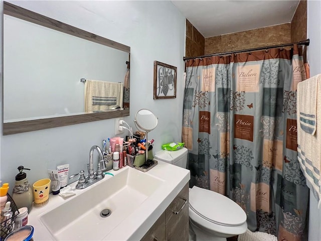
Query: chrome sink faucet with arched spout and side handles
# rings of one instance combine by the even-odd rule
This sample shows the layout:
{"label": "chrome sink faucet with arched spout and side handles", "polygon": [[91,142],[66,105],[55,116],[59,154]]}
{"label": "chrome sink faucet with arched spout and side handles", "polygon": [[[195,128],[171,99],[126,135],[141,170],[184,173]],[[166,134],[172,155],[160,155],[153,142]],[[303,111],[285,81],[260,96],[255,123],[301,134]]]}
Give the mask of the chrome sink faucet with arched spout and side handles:
{"label": "chrome sink faucet with arched spout and side handles", "polygon": [[[94,150],[98,152],[99,155],[99,162],[98,162],[98,168],[97,171],[94,172]],[[76,185],[76,189],[84,189],[91,184],[94,184],[95,182],[98,182],[99,180],[103,179],[105,176],[102,174],[103,171],[105,171],[106,168],[106,161],[108,163],[108,160],[104,160],[103,153],[100,149],[100,147],[94,145],[90,148],[89,151],[89,164],[87,164],[88,167],[88,176],[85,177],[84,170],[81,170],[80,173],[71,175],[69,179],[75,178],[78,175],[80,175],[78,183]]]}

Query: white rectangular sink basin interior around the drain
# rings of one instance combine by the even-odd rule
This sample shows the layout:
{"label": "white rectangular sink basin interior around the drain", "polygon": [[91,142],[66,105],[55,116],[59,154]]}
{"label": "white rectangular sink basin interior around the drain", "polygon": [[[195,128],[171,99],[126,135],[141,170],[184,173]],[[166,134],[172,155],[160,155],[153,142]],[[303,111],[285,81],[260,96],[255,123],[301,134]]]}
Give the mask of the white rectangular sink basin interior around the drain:
{"label": "white rectangular sink basin interior around the drain", "polygon": [[[126,168],[114,177],[106,175],[87,192],[47,212],[40,220],[58,240],[102,240],[163,182]],[[106,208],[111,214],[101,217],[100,212]]]}

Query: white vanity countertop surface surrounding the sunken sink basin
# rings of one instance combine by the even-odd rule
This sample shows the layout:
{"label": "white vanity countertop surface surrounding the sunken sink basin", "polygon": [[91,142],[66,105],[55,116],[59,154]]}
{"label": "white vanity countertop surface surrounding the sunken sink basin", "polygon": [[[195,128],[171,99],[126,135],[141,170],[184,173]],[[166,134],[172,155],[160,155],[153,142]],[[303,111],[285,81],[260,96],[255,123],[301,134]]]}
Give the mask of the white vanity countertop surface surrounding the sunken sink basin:
{"label": "white vanity countertop surface surrounding the sunken sink basin", "polygon": [[[125,171],[127,168],[131,167],[126,166],[118,171],[110,170],[108,172],[116,176],[118,173]],[[143,173],[136,169],[134,169],[134,171]],[[162,161],[158,161],[158,164],[149,171],[145,172],[144,175],[151,175],[153,177],[162,179],[164,182],[142,203],[142,205],[133,207],[135,210],[109,233],[106,233],[102,240],[140,240],[190,180],[189,170]],[[28,216],[28,225],[32,225],[35,228],[33,235],[34,240],[56,240],[41,221],[42,215],[60,206],[61,204],[72,200],[78,194],[86,192],[90,188],[99,185],[99,182],[108,181],[109,178],[112,177],[110,175],[106,175],[103,180],[98,181],[97,183],[82,190],[75,189],[77,182],[74,182],[69,186],[72,187],[76,195],[69,198],[62,198],[59,195],[50,194],[48,204],[41,208],[33,206]],[[146,184],[148,185],[148,183]],[[81,209],[81,206],[81,203],[79,203],[79,209]],[[68,215],[68,210],[66,210],[66,215]],[[57,220],[57,222],[59,222],[59,220]],[[90,225],[95,225],[95,223],[88,223],[88,232],[91,231]],[[101,232],[103,231],[104,230],[101,230]],[[75,238],[75,240],[77,239]]]}

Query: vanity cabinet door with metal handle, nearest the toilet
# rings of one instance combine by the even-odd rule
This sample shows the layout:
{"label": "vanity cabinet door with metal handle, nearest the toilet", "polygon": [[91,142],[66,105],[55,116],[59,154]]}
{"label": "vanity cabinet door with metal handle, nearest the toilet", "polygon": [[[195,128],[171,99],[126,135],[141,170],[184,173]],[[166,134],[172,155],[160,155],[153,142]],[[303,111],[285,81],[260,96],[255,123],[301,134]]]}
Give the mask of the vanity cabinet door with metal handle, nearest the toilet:
{"label": "vanity cabinet door with metal handle, nearest the toilet", "polygon": [[166,240],[189,239],[189,185],[186,184],[166,209]]}

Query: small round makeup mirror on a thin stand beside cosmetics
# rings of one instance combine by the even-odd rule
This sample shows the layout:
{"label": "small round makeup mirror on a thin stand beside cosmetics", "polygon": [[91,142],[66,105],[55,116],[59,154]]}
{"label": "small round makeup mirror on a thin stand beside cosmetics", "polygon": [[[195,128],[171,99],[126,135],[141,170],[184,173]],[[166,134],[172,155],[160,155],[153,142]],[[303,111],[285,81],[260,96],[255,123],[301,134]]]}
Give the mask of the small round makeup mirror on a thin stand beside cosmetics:
{"label": "small round makeup mirror on a thin stand beside cosmetics", "polygon": [[[145,164],[148,162],[148,148],[149,148],[149,143],[148,143],[148,137],[147,133],[154,130],[157,127],[157,116],[151,112],[149,109],[140,109],[136,112],[135,114],[135,119],[134,119],[135,126],[137,129],[140,131],[143,131],[146,133],[146,160]],[[155,164],[155,161],[149,160],[151,162],[151,165]]]}

